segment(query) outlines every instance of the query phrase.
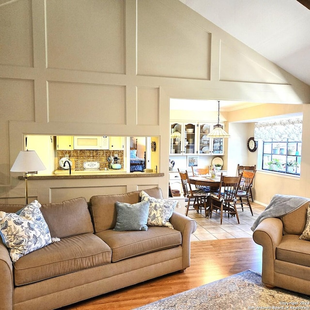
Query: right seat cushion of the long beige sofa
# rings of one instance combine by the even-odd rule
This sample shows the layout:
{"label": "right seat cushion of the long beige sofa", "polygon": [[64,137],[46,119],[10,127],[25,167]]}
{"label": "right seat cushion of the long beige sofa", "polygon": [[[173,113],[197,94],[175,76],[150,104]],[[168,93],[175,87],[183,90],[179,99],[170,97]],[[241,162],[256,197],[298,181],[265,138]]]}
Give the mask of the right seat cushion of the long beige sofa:
{"label": "right seat cushion of the long beige sofa", "polygon": [[96,235],[112,249],[112,262],[176,247],[182,243],[181,233],[168,227],[149,227],[146,232],[106,230]]}

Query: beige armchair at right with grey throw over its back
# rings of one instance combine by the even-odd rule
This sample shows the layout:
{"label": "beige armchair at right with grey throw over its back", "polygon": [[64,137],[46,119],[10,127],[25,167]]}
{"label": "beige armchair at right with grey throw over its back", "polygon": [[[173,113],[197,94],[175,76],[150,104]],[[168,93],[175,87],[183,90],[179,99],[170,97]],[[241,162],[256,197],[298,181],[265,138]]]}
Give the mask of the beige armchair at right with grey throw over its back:
{"label": "beige armchair at right with grey throw over its back", "polygon": [[262,281],[310,295],[310,241],[299,236],[307,221],[309,202],[280,217],[265,218],[253,233],[254,241],[263,246]]}

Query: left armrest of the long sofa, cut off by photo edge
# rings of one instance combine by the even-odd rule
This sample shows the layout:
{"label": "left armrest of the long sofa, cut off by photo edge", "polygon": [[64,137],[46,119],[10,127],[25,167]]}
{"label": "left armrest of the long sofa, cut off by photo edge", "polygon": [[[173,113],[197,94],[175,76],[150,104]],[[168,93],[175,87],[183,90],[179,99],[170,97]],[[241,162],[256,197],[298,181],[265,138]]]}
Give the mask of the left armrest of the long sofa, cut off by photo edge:
{"label": "left armrest of the long sofa, cut off by photo edge", "polygon": [[0,310],[13,309],[13,263],[9,251],[0,241]]}

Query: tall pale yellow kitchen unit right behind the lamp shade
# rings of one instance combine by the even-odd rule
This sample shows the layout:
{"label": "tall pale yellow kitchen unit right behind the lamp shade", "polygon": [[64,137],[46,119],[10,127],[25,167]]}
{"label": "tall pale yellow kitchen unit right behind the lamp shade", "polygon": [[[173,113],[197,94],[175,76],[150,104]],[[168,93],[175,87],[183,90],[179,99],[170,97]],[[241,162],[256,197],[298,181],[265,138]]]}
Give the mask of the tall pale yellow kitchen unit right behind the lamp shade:
{"label": "tall pale yellow kitchen unit right behind the lamp shade", "polygon": [[[51,174],[55,170],[55,138],[54,136],[27,135],[25,136],[25,151],[35,151],[46,170],[38,171],[38,174]],[[57,156],[56,156],[57,157]]]}

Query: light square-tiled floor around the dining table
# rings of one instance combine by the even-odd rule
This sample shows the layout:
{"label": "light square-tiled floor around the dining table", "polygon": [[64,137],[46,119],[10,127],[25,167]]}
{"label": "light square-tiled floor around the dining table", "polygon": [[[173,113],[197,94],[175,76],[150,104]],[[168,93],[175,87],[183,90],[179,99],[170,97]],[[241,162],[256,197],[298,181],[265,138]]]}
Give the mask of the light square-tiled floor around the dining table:
{"label": "light square-tiled floor around the dining table", "polygon": [[204,211],[197,213],[196,210],[189,210],[188,216],[197,222],[197,230],[191,235],[191,241],[228,239],[228,238],[251,238],[251,226],[255,219],[263,212],[264,206],[251,202],[253,216],[248,208],[237,209],[240,224],[236,217],[228,217],[223,214],[222,225],[220,224],[219,212],[218,216],[213,213],[212,218],[204,217]]}

